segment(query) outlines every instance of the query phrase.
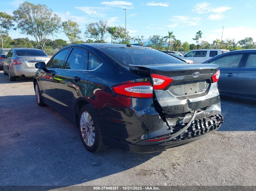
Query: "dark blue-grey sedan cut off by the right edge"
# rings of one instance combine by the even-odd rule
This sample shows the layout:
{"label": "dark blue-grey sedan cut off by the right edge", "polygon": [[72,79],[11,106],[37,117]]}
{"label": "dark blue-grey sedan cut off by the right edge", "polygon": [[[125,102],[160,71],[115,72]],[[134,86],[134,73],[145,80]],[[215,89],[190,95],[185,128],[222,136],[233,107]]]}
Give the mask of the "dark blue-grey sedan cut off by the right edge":
{"label": "dark blue-grey sedan cut off by the right edge", "polygon": [[221,94],[256,99],[256,49],[231,51],[204,63],[219,65]]}

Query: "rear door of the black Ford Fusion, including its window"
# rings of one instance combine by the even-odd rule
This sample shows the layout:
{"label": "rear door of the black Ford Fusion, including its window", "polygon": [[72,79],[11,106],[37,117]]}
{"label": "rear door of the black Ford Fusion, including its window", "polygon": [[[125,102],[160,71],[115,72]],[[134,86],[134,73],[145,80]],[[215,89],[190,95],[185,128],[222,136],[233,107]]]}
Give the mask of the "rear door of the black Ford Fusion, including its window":
{"label": "rear door of the black Ford Fusion, including its window", "polygon": [[[55,75],[56,108],[73,118],[75,100],[88,67],[88,51],[74,47],[63,69]],[[85,81],[87,81],[85,79]]]}

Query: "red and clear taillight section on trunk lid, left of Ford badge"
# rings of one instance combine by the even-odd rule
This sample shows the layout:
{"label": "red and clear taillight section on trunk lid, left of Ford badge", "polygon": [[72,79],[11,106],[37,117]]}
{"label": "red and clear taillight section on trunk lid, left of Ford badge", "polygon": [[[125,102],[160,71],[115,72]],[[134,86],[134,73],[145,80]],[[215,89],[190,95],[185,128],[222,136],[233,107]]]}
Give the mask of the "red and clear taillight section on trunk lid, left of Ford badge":
{"label": "red and clear taillight section on trunk lid, left of Ford badge", "polygon": [[167,76],[162,76],[158,74],[151,74],[151,76],[153,79],[154,90],[164,90],[173,81],[173,78]]}

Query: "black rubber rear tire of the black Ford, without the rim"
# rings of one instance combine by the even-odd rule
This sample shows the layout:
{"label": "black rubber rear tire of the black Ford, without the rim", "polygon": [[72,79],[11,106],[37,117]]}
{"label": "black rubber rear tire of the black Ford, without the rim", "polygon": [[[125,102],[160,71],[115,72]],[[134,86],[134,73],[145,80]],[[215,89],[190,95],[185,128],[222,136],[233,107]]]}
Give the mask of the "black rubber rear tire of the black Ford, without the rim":
{"label": "black rubber rear tire of the black Ford, without the rim", "polygon": [[[86,145],[86,143],[85,143],[85,141],[83,139],[82,133],[81,133],[81,127],[80,127],[80,121],[81,120],[80,119],[81,119],[81,115],[83,114],[83,112],[87,112],[87,113],[90,114],[91,119],[92,119],[93,124],[94,124],[95,141],[94,141],[92,146]],[[94,153],[94,152],[103,151],[103,150],[108,148],[108,146],[104,145],[103,137],[102,137],[102,134],[101,134],[101,128],[100,128],[100,125],[99,125],[99,119],[98,119],[98,116],[96,115],[96,113],[94,112],[92,106],[84,105],[80,109],[79,115],[78,115],[78,131],[79,131],[79,134],[80,134],[80,138],[81,138],[81,140],[83,142],[83,145],[85,146],[85,148],[88,151]]]}

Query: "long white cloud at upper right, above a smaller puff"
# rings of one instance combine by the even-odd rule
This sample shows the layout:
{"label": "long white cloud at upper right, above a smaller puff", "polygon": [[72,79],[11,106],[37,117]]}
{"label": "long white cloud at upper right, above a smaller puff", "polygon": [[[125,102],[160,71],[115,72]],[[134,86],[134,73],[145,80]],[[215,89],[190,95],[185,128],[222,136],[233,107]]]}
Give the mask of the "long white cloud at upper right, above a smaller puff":
{"label": "long white cloud at upper right, above a smaller puff", "polygon": [[192,12],[196,12],[198,14],[223,13],[229,9],[231,9],[229,6],[213,7],[211,3],[197,3],[193,6]]}

